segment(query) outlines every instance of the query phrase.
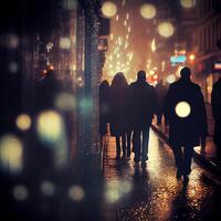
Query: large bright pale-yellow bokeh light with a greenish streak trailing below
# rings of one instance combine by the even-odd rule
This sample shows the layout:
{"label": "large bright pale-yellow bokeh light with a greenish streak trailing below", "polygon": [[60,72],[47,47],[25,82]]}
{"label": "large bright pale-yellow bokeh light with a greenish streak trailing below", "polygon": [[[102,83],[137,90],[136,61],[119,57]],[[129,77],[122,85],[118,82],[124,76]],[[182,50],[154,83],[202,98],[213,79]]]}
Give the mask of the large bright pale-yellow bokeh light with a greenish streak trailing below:
{"label": "large bright pale-yellow bokeh light with a greenish streak trailing below", "polygon": [[62,117],[53,110],[46,110],[39,115],[38,122],[39,137],[49,144],[57,141],[62,136]]}

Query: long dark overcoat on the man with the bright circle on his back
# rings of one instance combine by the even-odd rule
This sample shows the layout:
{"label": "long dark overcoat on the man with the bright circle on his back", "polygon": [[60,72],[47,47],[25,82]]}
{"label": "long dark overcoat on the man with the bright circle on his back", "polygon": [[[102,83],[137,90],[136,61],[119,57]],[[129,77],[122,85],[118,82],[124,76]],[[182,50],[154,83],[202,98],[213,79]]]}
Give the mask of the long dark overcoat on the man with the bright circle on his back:
{"label": "long dark overcoat on the man with the bright circle on his back", "polygon": [[[180,102],[189,104],[187,117],[179,117],[176,113]],[[166,95],[165,113],[169,119],[169,143],[173,147],[200,145],[200,137],[207,135],[207,113],[200,86],[182,78],[171,84]]]}

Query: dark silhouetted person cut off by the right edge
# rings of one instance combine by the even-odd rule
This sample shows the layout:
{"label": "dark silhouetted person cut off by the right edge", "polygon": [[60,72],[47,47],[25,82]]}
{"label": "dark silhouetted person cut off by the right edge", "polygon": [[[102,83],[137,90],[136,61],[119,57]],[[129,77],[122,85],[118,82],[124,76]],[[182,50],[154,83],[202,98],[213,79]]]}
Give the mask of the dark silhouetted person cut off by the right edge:
{"label": "dark silhouetted person cut off by the right edge", "polygon": [[221,78],[213,85],[211,103],[212,116],[214,118],[213,140],[217,145],[217,157],[221,158]]}

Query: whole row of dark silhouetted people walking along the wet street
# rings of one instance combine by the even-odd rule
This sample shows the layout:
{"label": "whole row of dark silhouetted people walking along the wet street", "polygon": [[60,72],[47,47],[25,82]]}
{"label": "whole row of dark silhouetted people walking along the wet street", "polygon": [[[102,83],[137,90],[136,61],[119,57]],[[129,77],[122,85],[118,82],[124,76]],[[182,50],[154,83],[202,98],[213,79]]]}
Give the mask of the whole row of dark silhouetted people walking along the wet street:
{"label": "whole row of dark silhouetted people walking along the wet street", "polygon": [[[112,84],[105,80],[99,86],[99,135],[101,140],[107,134],[109,124],[110,136],[116,138],[116,159],[130,159],[134,151],[136,165],[141,161],[146,167],[148,160],[149,128],[154,115],[157,124],[169,125],[169,143],[171,145],[177,179],[189,180],[193,147],[199,146],[201,139],[208,136],[207,112],[203,95],[199,85],[191,82],[191,71],[183,67],[180,78],[170,84],[169,88],[162,82],[154,87],[146,81],[145,71],[137,73],[137,80],[130,85],[124,73],[117,73]],[[213,116],[215,119],[214,141],[220,147],[220,84],[214,85],[212,93]],[[176,107],[185,102],[190,112],[187,116],[179,116]],[[131,144],[131,146],[130,146]],[[183,147],[183,148],[182,148]]]}

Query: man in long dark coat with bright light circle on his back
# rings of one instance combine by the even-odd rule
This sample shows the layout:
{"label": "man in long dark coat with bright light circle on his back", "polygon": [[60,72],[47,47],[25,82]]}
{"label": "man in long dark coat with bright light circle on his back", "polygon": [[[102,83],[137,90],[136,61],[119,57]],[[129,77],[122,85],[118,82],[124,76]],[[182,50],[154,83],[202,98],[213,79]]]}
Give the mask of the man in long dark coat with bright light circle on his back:
{"label": "man in long dark coat with bright light circle on his back", "polygon": [[[207,113],[200,86],[190,80],[191,71],[183,67],[180,80],[170,84],[166,95],[165,112],[169,120],[169,143],[172,147],[177,179],[189,181],[193,147],[207,136]],[[183,147],[183,151],[181,149]]]}

